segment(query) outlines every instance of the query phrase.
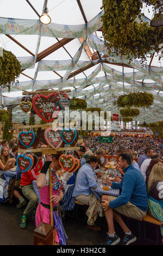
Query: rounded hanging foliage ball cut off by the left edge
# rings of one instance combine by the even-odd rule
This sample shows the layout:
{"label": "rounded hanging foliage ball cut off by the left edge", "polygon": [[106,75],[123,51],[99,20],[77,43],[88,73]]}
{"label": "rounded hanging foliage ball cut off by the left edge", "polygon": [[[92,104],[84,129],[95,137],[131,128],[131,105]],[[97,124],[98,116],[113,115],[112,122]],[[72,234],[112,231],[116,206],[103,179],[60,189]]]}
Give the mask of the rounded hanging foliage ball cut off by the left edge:
{"label": "rounded hanging foliage ball cut off by the left edge", "polygon": [[16,56],[3,49],[3,56],[0,57],[0,86],[8,87],[10,91],[11,84],[20,76],[20,72],[21,64]]}

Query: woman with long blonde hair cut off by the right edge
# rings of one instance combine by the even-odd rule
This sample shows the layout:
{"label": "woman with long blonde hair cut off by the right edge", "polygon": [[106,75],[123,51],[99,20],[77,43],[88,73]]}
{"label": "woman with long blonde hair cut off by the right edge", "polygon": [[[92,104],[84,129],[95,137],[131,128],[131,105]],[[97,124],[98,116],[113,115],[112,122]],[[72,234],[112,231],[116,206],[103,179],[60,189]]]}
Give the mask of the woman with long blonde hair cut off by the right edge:
{"label": "woman with long blonde hair cut off by the right edge", "polygon": [[154,164],[148,179],[148,212],[159,220],[162,225],[161,235],[163,243],[163,164]]}

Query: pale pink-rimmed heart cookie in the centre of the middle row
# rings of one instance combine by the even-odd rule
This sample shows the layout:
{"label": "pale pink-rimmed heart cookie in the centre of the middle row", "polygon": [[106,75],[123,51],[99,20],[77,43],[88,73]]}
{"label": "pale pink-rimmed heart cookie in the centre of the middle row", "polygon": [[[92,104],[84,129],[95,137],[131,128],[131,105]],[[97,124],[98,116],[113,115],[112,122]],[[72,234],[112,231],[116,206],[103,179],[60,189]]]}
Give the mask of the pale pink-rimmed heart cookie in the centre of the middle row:
{"label": "pale pink-rimmed heart cookie in the centre of the middle row", "polygon": [[44,135],[45,135],[46,142],[49,144],[51,148],[57,149],[61,146],[63,141],[60,136],[59,127],[57,127],[56,129],[52,129],[48,127],[45,130]]}

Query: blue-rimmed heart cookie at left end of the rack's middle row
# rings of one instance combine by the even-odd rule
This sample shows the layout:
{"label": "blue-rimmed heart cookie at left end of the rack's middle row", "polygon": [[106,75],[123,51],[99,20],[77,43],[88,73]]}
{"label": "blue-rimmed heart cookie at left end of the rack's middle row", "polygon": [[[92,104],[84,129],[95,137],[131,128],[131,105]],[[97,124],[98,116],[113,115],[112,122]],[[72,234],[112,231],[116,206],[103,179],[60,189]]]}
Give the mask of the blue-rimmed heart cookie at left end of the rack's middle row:
{"label": "blue-rimmed heart cookie at left end of the rack's middle row", "polygon": [[32,146],[32,144],[35,141],[35,133],[33,131],[29,131],[29,132],[22,131],[18,135],[18,140],[24,147],[29,148]]}

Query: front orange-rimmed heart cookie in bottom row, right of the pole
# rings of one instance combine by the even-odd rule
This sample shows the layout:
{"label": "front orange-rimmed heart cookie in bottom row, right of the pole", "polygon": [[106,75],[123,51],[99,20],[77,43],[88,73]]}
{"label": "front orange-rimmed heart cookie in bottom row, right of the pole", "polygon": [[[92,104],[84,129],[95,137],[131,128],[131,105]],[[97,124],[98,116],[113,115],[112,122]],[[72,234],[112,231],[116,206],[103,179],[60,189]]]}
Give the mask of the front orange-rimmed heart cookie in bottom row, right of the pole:
{"label": "front orange-rimmed heart cookie in bottom row, right of the pole", "polygon": [[65,170],[65,172],[70,172],[70,170],[73,169],[75,163],[76,163],[76,160],[72,155],[62,154],[59,157],[59,164],[61,168]]}

